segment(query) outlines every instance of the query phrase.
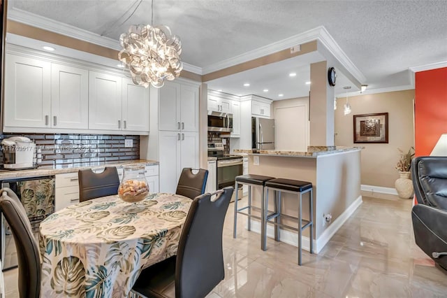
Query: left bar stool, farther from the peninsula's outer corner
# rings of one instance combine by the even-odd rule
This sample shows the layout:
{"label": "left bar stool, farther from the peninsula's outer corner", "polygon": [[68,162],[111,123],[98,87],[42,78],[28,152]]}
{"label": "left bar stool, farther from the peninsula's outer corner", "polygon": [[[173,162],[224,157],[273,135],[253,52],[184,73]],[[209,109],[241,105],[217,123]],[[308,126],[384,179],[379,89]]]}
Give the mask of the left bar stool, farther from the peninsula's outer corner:
{"label": "left bar stool, farther from the peninsula's outer corner", "polygon": [[[259,209],[257,207],[251,206],[251,187],[252,186],[262,186],[262,194],[261,194],[261,205],[263,206],[263,202],[264,202],[264,186],[265,186],[265,182],[268,180],[272,180],[274,179],[274,177],[269,177],[269,176],[261,176],[261,175],[240,175],[240,176],[236,176],[235,178],[235,190],[236,190],[236,196],[235,196],[235,219],[234,219],[234,230],[233,230],[233,238],[236,238],[236,227],[237,227],[237,213],[243,214],[243,215],[247,215],[247,229],[250,231],[251,229],[251,225],[250,225],[250,219],[251,218],[257,218],[258,220],[261,220],[261,248],[263,247],[263,208],[261,208],[261,217],[257,216],[257,215],[253,215],[251,214],[251,209],[252,208],[256,208]],[[248,203],[247,206],[242,207],[240,209],[237,208],[237,187],[239,187],[239,185],[248,185],[249,186],[249,195],[248,195]],[[247,210],[247,213],[242,212],[245,209]]]}

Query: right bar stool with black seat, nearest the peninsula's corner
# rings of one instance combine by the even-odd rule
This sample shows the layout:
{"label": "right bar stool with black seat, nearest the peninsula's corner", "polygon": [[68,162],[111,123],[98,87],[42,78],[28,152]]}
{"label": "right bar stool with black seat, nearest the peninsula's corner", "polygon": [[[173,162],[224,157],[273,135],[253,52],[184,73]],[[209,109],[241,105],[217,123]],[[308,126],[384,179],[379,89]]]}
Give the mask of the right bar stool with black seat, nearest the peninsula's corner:
{"label": "right bar stool with black seat, nearest the peninsula's corner", "polygon": [[[268,191],[274,190],[274,211],[273,213],[268,214]],[[279,241],[279,227],[287,227],[288,229],[293,229],[295,231],[298,231],[298,265],[301,266],[301,234],[304,229],[309,227],[309,239],[310,239],[310,253],[313,253],[313,244],[312,239],[314,235],[313,226],[314,226],[314,214],[312,212],[312,183],[307,181],[300,181],[300,180],[291,180],[291,179],[272,179],[268,180],[265,183],[265,203],[263,206],[265,208],[263,209],[263,218],[265,218],[263,222],[263,230],[267,231],[267,223],[270,222],[274,224],[274,240]],[[298,212],[298,218],[295,218],[294,216],[285,215],[281,213],[281,192],[289,192],[292,194],[300,194],[300,205],[299,205],[299,212]],[[309,192],[309,220],[303,220],[302,219],[302,194],[305,194]],[[281,216],[284,216],[285,218],[291,218],[293,220],[298,220],[298,229],[295,227],[291,227],[288,225],[283,225],[280,222]],[[272,221],[274,219],[274,221]],[[305,222],[305,225],[302,225],[302,222]],[[261,248],[263,250],[266,249],[267,246],[267,233],[263,234],[263,243],[261,245]]]}

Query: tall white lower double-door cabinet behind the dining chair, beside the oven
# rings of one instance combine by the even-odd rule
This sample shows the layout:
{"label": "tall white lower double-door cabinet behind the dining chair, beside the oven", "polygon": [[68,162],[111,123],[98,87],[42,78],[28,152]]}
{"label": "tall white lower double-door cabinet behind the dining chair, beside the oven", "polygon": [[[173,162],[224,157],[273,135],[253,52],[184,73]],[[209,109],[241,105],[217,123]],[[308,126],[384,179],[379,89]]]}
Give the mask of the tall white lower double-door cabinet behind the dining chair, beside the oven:
{"label": "tall white lower double-door cabinet behind the dining chair, beside the oven", "polygon": [[160,192],[174,193],[183,168],[198,168],[197,132],[159,132]]}

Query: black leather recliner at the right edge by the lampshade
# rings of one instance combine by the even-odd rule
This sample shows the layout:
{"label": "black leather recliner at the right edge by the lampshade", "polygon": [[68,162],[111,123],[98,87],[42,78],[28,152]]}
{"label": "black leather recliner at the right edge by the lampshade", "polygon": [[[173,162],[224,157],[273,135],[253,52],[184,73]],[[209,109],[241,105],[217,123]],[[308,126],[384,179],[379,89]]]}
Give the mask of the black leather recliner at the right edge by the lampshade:
{"label": "black leather recliner at the right edge by the lampshade", "polygon": [[418,201],[411,211],[416,244],[447,270],[447,157],[416,157],[411,178]]}

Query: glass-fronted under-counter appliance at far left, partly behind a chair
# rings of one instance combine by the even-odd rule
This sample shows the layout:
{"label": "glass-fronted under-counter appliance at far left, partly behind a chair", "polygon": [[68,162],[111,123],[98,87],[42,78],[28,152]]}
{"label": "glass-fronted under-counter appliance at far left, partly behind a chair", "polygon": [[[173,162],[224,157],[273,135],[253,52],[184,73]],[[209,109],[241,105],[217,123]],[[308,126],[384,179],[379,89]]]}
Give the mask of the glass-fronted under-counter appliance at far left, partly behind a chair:
{"label": "glass-fronted under-counter appliance at far left, partly behind a chair", "polygon": [[[38,241],[38,229],[42,220],[54,213],[54,176],[1,180],[0,186],[9,187],[22,202],[27,212],[34,236]],[[3,270],[17,267],[17,252],[13,234],[3,214],[0,221],[0,247]]]}

